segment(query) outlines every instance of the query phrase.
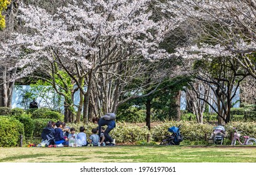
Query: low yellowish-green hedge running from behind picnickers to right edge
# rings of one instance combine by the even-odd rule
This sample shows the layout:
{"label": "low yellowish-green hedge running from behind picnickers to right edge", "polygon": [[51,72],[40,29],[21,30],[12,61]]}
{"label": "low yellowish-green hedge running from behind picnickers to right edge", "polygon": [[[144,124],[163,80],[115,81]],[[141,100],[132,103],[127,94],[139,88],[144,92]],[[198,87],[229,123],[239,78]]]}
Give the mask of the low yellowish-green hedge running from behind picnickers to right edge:
{"label": "low yellowish-green hedge running from behind picnickers to right edge", "polygon": [[[207,137],[210,137],[210,134],[213,132],[213,127],[215,125],[204,123],[198,124],[196,122],[191,121],[165,121],[161,123],[154,124],[151,126],[151,131],[148,131],[146,127],[140,127],[135,123],[116,123],[116,128],[114,128],[110,132],[110,136],[116,139],[116,143],[125,143],[125,144],[146,144],[144,143],[147,140],[147,134],[150,133],[151,140],[153,142],[160,143],[165,135],[170,135],[172,133],[168,132],[168,128],[172,126],[179,126],[180,133],[183,136],[183,141],[180,143],[181,145],[205,145],[207,141],[205,141],[205,134]],[[80,124],[71,124],[67,123],[67,126],[70,128],[75,128],[76,133],[79,133],[79,127],[84,126],[85,133],[87,138],[91,135],[91,129],[97,128],[98,125],[93,123],[88,123],[84,125]],[[106,126],[105,126],[106,127]],[[224,139],[224,144],[230,144],[230,136],[233,133],[233,128],[238,128],[239,131],[242,131],[244,136],[250,136],[256,138],[256,123],[252,122],[232,122],[225,125],[225,129],[227,131],[227,137]]]}

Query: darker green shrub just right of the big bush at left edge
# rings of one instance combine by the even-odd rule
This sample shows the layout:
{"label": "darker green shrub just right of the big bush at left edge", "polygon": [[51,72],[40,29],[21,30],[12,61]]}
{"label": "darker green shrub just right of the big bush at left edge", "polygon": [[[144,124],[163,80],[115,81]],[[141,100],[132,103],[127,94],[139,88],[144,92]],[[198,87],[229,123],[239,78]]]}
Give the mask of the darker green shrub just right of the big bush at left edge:
{"label": "darker green shrub just right of the big bush at left edge", "polygon": [[18,119],[24,125],[24,136],[26,138],[32,138],[34,133],[34,121],[28,114],[22,114],[21,116],[14,116],[14,118]]}

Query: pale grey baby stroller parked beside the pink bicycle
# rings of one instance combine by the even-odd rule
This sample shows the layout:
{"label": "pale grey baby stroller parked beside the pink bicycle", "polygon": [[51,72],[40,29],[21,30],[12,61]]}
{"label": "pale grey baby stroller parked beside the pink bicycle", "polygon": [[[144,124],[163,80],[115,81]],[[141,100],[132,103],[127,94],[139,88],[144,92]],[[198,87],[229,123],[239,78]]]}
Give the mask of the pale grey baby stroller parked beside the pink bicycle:
{"label": "pale grey baby stroller parked beside the pink bicycle", "polygon": [[209,143],[215,143],[222,145],[224,138],[227,136],[224,126],[219,125],[213,127],[213,133],[211,134],[210,138],[208,139]]}

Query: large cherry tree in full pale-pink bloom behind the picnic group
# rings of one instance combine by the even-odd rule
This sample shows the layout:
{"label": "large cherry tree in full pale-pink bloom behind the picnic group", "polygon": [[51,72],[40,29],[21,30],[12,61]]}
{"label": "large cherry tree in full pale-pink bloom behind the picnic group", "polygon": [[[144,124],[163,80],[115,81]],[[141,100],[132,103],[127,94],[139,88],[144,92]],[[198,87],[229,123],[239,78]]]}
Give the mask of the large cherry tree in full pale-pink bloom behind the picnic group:
{"label": "large cherry tree in full pale-pink bloom behind the picnic group", "polygon": [[23,48],[15,66],[23,69],[15,78],[58,64],[81,91],[79,107],[83,105],[84,121],[88,120],[90,102],[98,108],[96,116],[116,112],[117,106],[128,100],[120,98],[127,93],[125,87],[136,85],[130,89],[130,98],[139,97],[148,71],[153,84],[168,74],[148,68],[173,57],[159,44],[178,25],[175,17],[153,20],[153,2],[161,7],[160,2],[151,0],[71,1],[54,13],[38,6],[21,6],[19,17],[29,32],[16,33],[9,42],[9,46]]}

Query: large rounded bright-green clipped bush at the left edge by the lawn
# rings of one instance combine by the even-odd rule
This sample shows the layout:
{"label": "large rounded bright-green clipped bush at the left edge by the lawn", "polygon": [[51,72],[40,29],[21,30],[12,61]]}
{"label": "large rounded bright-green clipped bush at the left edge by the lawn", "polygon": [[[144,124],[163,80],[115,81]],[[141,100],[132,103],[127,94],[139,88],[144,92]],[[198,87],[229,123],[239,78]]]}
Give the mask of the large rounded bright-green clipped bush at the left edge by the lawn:
{"label": "large rounded bright-green clipped bush at the left edge by the lawn", "polygon": [[1,116],[0,118],[0,147],[19,145],[19,136],[24,135],[24,126],[18,120]]}

